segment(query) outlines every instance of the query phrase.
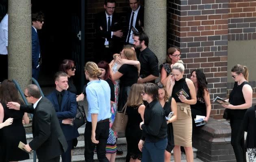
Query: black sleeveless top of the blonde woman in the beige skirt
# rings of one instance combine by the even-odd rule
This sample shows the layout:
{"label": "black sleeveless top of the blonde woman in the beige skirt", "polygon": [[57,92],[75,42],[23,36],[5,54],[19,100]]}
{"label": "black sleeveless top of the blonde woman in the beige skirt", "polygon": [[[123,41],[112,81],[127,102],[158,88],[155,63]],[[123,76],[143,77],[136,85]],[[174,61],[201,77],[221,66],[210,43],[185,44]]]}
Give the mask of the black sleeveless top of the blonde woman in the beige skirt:
{"label": "black sleeveless top of the blonde woman in the beige skirt", "polygon": [[181,102],[176,94],[176,92],[178,92],[181,89],[183,89],[189,95],[189,97],[187,97],[187,100],[191,100],[191,95],[189,93],[189,87],[187,85],[186,78],[183,77],[182,79],[180,79],[178,81],[175,80],[175,84],[174,84],[174,87],[173,87],[172,93],[171,93],[171,96],[175,99],[175,101]]}

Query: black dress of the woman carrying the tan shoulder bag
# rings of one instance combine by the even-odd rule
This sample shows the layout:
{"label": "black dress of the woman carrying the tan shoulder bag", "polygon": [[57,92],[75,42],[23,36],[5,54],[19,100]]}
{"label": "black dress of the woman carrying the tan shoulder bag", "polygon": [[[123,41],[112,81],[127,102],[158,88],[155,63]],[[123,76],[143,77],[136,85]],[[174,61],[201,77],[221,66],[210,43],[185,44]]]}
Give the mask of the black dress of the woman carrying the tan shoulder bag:
{"label": "black dress of the woman carrying the tan shoulder bag", "polygon": [[139,128],[139,124],[142,122],[141,115],[138,112],[139,107],[127,107],[126,113],[128,115],[128,122],[126,126],[126,141],[127,141],[127,156],[126,162],[132,159],[141,160],[141,151],[139,151],[138,143],[141,139],[142,130]]}

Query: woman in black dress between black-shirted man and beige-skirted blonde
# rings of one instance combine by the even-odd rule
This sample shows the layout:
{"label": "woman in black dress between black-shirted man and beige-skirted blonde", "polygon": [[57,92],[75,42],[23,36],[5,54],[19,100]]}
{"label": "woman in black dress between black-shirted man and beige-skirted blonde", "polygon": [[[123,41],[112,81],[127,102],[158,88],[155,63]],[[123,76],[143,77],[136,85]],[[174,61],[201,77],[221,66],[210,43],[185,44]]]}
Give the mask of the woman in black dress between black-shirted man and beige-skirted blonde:
{"label": "woman in black dress between black-shirted man and beige-skirted blonde", "polygon": [[168,143],[165,149],[165,162],[170,162],[171,150],[174,149],[174,130],[172,127],[172,122],[174,122],[177,119],[177,115],[176,115],[177,104],[174,98],[169,97],[165,86],[161,82],[158,82],[157,86],[158,86],[158,100],[165,111],[165,116],[168,117],[169,113],[174,112],[173,115],[171,116],[171,119],[166,120]]}

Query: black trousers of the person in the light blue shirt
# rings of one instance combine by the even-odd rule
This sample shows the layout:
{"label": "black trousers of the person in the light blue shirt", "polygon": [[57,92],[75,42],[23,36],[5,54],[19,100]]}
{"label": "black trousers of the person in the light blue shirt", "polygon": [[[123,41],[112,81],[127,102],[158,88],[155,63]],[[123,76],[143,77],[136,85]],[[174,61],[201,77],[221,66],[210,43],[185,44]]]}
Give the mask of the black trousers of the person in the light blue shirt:
{"label": "black trousers of the person in the light blue shirt", "polygon": [[85,162],[93,162],[93,154],[95,146],[99,162],[109,162],[106,158],[106,143],[109,135],[109,122],[97,123],[95,130],[95,139],[98,144],[91,141],[91,122],[87,122],[85,126]]}

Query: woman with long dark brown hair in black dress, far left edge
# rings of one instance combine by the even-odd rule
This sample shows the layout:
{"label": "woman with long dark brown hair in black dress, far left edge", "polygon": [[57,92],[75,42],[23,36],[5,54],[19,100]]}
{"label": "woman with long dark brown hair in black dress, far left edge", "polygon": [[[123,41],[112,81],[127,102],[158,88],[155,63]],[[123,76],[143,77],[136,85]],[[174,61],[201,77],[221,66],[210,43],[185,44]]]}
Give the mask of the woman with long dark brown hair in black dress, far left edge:
{"label": "woman with long dark brown hair in black dress, far left edge", "polygon": [[18,148],[20,141],[24,144],[26,142],[26,132],[22,124],[22,119],[25,124],[29,123],[29,118],[26,113],[22,111],[16,111],[8,109],[7,102],[21,101],[18,96],[18,91],[12,81],[4,80],[0,85],[0,110],[4,113],[0,113],[0,123],[5,122],[10,117],[13,118],[13,124],[6,126],[0,130],[0,154],[2,154],[1,162],[20,161],[29,159],[28,153]]}

